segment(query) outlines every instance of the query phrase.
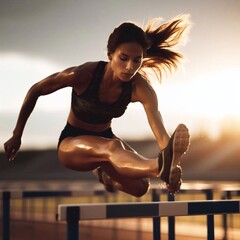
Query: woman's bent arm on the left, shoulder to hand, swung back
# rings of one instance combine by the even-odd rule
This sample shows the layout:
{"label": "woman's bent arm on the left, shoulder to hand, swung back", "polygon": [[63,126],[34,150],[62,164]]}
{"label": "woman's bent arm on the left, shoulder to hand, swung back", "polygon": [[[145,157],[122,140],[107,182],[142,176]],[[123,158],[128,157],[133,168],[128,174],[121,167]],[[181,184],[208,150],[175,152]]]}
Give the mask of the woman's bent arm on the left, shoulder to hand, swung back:
{"label": "woman's bent arm on the left, shoulder to hand, swung back", "polygon": [[28,91],[22,104],[12,137],[4,144],[9,160],[13,160],[21,146],[21,138],[26,122],[32,113],[38,98],[53,93],[61,88],[73,86],[76,79],[76,67],[55,73],[34,84]]}

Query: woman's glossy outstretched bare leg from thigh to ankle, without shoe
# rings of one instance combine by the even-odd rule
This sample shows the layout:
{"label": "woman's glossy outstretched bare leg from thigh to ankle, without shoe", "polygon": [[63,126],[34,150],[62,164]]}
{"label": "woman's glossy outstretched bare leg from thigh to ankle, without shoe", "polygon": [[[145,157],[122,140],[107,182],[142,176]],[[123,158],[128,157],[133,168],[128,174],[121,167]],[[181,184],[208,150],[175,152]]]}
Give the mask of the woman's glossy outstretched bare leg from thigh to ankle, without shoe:
{"label": "woman's glossy outstretched bare leg from thigh to ankle, without shoe", "polygon": [[[157,159],[146,159],[125,149],[118,139],[97,136],[69,137],[59,146],[59,160],[77,171],[91,171],[106,164],[123,177],[140,179],[158,175]],[[107,172],[107,171],[106,171]]]}

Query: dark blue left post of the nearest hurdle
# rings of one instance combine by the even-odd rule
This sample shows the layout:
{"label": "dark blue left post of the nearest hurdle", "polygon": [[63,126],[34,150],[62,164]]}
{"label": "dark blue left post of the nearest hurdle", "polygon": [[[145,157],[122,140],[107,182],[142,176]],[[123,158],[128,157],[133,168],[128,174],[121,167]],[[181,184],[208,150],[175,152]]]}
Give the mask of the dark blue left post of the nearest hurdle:
{"label": "dark blue left post of the nearest hurdle", "polygon": [[67,209],[67,240],[79,239],[79,208],[70,207]]}

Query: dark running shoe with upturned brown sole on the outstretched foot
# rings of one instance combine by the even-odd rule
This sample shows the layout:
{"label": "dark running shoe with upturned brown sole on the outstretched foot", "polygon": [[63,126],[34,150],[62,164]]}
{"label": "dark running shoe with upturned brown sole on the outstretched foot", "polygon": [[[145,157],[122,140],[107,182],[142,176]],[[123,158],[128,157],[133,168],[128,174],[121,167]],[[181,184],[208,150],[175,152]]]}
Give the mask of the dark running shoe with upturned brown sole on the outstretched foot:
{"label": "dark running shoe with upturned brown sole on the outstretched foot", "polygon": [[[180,160],[186,153],[190,143],[190,135],[184,124],[179,124],[171,136],[165,149],[158,155],[159,177],[166,182],[169,193],[180,190],[182,183],[182,168]],[[161,166],[161,167],[160,167]]]}

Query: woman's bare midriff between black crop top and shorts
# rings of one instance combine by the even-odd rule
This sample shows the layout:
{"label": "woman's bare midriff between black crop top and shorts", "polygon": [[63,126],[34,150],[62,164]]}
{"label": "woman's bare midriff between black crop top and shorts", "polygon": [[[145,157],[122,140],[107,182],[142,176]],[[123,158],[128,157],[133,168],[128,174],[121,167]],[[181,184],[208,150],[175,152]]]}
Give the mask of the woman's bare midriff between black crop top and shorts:
{"label": "woman's bare midriff between black crop top and shorts", "polygon": [[93,132],[102,132],[111,127],[111,122],[102,123],[102,124],[91,124],[91,123],[84,122],[78,119],[74,115],[72,110],[70,111],[68,116],[68,123],[70,123],[74,127],[85,129],[87,131],[93,131]]}

